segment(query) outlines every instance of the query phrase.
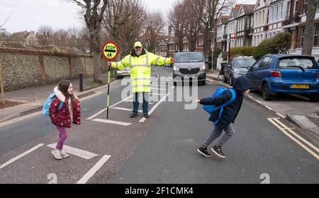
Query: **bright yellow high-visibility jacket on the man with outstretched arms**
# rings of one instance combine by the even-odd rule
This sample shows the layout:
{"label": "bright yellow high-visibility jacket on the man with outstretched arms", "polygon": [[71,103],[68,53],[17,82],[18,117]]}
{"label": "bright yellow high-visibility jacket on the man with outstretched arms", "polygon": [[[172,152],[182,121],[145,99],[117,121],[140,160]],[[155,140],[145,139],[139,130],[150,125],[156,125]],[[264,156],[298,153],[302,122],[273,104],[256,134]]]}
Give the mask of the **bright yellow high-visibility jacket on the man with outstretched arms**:
{"label": "bright yellow high-visibility jacket on the man with outstretched arms", "polygon": [[111,67],[122,70],[130,67],[130,79],[133,93],[150,92],[151,65],[171,64],[169,57],[162,57],[142,50],[140,56],[133,50],[119,62],[111,62]]}

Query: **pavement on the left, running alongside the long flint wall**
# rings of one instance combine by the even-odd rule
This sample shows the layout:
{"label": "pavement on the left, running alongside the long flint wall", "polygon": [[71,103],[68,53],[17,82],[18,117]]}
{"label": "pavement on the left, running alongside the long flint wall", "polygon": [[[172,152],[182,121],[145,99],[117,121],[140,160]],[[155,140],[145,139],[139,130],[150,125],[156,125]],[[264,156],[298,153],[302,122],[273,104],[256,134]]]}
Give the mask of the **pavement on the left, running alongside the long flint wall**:
{"label": "pavement on the left, running alongside the long flint wall", "polygon": [[[74,79],[72,80],[74,94],[76,94],[79,98],[85,97],[89,94],[94,94],[94,89],[105,86],[107,79],[108,75],[103,74],[103,84],[94,84],[93,77],[84,77],[84,92],[79,92],[79,79]],[[6,101],[22,102],[23,104],[0,109],[0,123],[42,110],[43,103],[49,94],[53,92],[55,86],[57,86],[57,83],[5,92],[4,94]]]}

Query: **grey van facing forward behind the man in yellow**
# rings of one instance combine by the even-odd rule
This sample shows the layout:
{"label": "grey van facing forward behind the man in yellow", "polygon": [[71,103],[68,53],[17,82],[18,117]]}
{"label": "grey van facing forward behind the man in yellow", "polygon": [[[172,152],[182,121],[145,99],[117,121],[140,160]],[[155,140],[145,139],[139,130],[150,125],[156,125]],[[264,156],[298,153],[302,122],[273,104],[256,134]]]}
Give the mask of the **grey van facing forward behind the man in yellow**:
{"label": "grey van facing forward behind the man in yellow", "polygon": [[[206,65],[202,52],[183,52],[174,54],[174,84],[184,79],[206,84]],[[180,78],[179,78],[180,77]]]}

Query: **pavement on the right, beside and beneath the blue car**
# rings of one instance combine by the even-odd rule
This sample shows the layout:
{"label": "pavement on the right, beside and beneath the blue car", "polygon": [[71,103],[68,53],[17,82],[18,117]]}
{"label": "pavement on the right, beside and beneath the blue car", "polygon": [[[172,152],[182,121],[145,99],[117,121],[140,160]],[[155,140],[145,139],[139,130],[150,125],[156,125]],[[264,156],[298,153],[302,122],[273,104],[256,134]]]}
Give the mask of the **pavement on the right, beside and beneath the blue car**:
{"label": "pavement on the right, beside and beneath the blue car", "polygon": [[[223,82],[223,75],[218,76],[219,72],[219,70],[209,71],[208,79]],[[229,84],[222,84],[230,87]],[[267,109],[271,109],[278,116],[289,119],[289,121],[308,131],[309,136],[313,136],[316,141],[319,141],[318,102],[311,102],[308,98],[295,94],[277,94],[272,101],[264,101],[261,92],[250,92],[249,98]]]}

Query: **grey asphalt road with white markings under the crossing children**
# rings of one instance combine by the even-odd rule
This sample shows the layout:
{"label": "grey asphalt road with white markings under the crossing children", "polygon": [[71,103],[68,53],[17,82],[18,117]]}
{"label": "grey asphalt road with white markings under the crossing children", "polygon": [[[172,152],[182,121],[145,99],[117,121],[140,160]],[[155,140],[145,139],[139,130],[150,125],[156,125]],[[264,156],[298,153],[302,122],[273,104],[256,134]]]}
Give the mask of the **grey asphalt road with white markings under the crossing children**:
{"label": "grey asphalt road with white markings under the crossing children", "polygon": [[[172,67],[152,67],[154,77],[171,76],[171,72]],[[214,82],[199,86],[198,98],[208,97],[218,86]],[[278,126],[291,131],[295,126],[250,99],[245,98],[235,136],[223,148],[227,158],[204,158],[196,150],[212,125],[201,106],[186,110],[189,101],[155,101],[150,104],[154,110],[150,119],[144,121],[142,114],[130,119],[125,109],[132,108],[131,101],[121,97],[125,87],[121,80],[111,85],[111,104],[116,109],[110,109],[108,121],[129,125],[105,123],[106,111],[101,110],[106,106],[106,90],[97,91],[82,99],[82,124],[72,126],[65,142],[81,150],[63,160],[50,153],[47,145],[56,143],[58,134],[49,124],[45,135],[43,116],[0,126],[0,183],[260,183],[264,173],[271,183],[319,182],[316,147],[287,136],[288,129]],[[159,94],[161,89],[170,95],[177,92],[177,87],[158,88]],[[30,148],[34,150],[23,155]],[[84,159],[85,152],[98,156]]]}

